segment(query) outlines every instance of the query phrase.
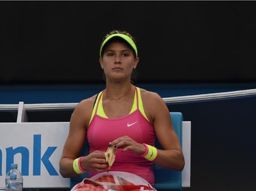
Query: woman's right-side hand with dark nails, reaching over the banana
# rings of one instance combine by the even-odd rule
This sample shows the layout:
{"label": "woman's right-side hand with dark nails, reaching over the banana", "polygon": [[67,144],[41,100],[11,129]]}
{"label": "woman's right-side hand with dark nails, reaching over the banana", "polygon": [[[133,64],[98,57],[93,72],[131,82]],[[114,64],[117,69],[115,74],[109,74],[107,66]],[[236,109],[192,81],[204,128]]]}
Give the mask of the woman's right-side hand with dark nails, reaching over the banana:
{"label": "woman's right-side hand with dark nails, reaching over the banana", "polygon": [[116,146],[117,149],[122,148],[123,152],[126,152],[128,150],[136,154],[144,154],[146,152],[146,148],[143,144],[137,143],[128,136],[115,139],[110,143],[110,146]]}

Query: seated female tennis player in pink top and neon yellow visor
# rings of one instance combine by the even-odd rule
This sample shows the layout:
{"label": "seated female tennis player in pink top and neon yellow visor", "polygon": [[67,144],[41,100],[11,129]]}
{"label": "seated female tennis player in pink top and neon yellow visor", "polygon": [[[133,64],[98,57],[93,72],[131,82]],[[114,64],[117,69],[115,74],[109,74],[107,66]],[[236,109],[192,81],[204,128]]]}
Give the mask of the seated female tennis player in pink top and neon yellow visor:
{"label": "seated female tennis player in pink top and neon yellow visor", "polygon": [[[124,172],[154,186],[154,162],[167,169],[184,168],[167,105],[156,92],[132,83],[138,55],[134,37],[126,31],[111,31],[103,38],[99,61],[106,87],[74,109],[60,160],[63,177],[85,171],[89,178],[107,171]],[[162,150],[154,147],[156,137]],[[86,138],[89,154],[79,157]],[[117,148],[110,170],[105,155],[108,147]]]}

